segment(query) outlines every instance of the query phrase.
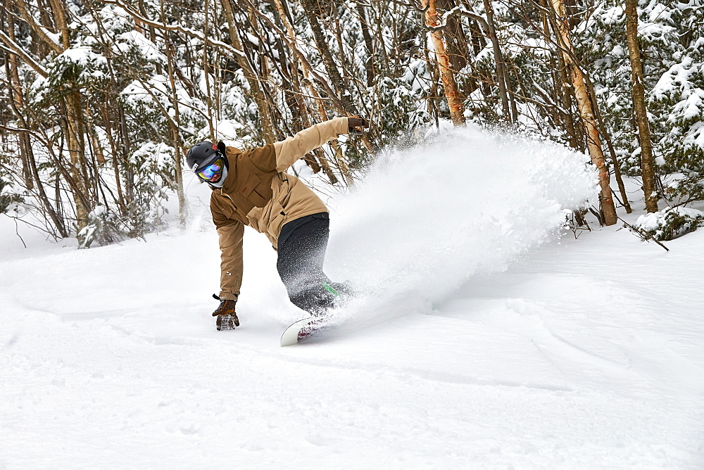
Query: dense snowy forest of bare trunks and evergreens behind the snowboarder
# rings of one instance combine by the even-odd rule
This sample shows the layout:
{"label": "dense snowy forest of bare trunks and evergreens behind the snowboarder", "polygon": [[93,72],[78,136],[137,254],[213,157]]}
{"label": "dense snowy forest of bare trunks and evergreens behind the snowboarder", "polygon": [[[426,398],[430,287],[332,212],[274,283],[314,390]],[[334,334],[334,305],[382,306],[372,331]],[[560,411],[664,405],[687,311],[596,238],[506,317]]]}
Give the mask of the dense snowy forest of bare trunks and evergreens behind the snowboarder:
{"label": "dense snowy forest of bare trunks and evergreens behind the snowboarder", "polygon": [[672,238],[704,219],[686,209],[704,199],[703,3],[4,0],[0,213],[86,248],[143,236],[170,194],[186,223],[191,144],[362,115],[365,136],[306,155],[334,191],[440,120],[472,122],[596,165],[599,201],[575,227],[631,212],[633,177],[658,215],[643,228]]}

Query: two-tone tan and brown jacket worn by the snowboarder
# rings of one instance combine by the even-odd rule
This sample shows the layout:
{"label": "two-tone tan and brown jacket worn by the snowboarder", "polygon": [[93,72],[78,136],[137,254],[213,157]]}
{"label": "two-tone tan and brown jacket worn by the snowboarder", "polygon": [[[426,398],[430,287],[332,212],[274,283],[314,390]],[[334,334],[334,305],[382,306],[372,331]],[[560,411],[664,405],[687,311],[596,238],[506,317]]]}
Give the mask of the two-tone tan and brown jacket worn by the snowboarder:
{"label": "two-tone tan and brown jacket worn by the snowboarder", "polygon": [[347,118],[335,118],[275,144],[244,152],[227,147],[227,178],[222,188],[214,188],[210,195],[210,212],[222,252],[221,299],[239,296],[244,225],[265,234],[277,249],[283,224],[327,212],[325,204],[308,186],[285,171],[298,158],[347,132]]}

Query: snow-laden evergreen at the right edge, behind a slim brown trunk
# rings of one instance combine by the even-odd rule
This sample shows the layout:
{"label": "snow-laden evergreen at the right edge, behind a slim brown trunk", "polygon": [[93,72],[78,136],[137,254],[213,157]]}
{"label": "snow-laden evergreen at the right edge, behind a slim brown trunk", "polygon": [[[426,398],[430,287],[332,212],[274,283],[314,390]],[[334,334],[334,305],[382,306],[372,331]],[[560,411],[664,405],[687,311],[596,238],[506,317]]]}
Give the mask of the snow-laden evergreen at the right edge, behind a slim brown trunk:
{"label": "snow-laden evergreen at the right edge, behind a slim brown trunk", "polygon": [[[644,89],[660,195],[673,203],[704,196],[704,75],[700,44],[704,6],[699,0],[638,3]],[[641,146],[629,89],[629,56],[622,1],[598,4],[582,44],[594,64],[592,80],[622,159],[640,175]]]}

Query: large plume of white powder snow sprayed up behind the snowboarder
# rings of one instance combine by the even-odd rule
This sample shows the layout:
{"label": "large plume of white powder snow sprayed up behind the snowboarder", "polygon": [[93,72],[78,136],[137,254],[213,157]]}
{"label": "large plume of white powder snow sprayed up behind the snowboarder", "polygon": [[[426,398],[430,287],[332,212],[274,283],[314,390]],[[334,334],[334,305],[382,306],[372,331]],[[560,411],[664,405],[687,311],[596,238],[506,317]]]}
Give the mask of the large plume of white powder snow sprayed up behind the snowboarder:
{"label": "large plume of white powder snow sprayed up behind the snowboarder", "polygon": [[479,127],[391,151],[337,201],[327,269],[369,291],[442,298],[557,236],[563,209],[596,195],[585,160]]}

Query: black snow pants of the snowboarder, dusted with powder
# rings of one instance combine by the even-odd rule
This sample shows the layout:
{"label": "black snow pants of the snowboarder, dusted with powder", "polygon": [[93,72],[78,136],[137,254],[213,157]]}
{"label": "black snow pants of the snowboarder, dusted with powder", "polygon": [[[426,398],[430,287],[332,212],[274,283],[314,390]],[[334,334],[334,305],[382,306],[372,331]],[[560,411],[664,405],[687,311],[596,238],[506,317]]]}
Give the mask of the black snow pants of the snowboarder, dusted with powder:
{"label": "black snow pants of the snowboarder, dusted with powder", "polygon": [[329,237],[327,212],[292,220],[279,235],[276,269],[291,303],[311,315],[324,315],[336,297],[334,286],[322,272]]}

